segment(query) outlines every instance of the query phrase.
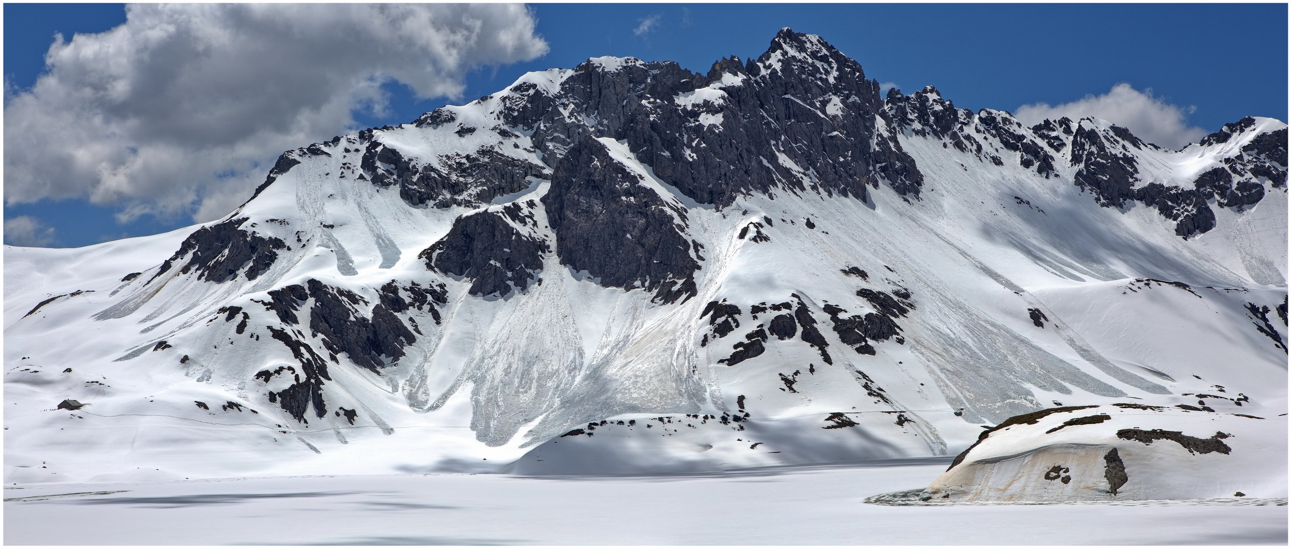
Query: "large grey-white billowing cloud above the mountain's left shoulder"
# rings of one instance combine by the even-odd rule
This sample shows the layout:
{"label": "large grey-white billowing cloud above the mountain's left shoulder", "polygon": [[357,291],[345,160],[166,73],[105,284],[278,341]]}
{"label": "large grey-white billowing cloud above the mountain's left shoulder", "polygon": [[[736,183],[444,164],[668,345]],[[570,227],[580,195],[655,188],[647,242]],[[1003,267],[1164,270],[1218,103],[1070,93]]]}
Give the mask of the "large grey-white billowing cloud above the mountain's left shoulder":
{"label": "large grey-white billowing cloud above the mountain's left shoulder", "polygon": [[8,204],[86,198],[120,208],[123,221],[217,218],[250,195],[279,152],[355,129],[352,110],[380,114],[382,83],[458,98],[470,70],[547,50],[523,5],[125,10],[116,28],[58,37],[46,74],[30,90],[6,90]]}

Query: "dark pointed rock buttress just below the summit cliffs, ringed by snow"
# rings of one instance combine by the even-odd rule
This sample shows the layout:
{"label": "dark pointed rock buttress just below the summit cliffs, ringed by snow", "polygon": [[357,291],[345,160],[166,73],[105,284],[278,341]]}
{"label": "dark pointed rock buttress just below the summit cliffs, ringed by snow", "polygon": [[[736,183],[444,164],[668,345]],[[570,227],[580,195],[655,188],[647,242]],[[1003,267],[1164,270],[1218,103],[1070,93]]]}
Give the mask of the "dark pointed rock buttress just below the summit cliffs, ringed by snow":
{"label": "dark pointed rock buttress just below the summit cliffs, ringed by snow", "polygon": [[684,302],[696,293],[700,270],[683,233],[686,209],[639,182],[600,142],[582,138],[571,147],[542,198],[556,233],[556,256],[600,285],[642,288],[653,292],[655,301]]}

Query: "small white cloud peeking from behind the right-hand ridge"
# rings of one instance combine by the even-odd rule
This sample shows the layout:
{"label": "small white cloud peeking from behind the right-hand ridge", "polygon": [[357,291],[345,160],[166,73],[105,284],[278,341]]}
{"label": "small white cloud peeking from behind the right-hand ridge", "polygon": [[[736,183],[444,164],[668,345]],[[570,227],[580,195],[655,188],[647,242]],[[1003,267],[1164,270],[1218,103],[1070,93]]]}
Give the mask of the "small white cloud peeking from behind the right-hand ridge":
{"label": "small white cloud peeking from behind the right-hand ridge", "polygon": [[1034,125],[1044,119],[1057,120],[1062,116],[1077,120],[1093,116],[1130,129],[1139,138],[1171,149],[1183,149],[1188,143],[1206,136],[1206,130],[1188,125],[1188,114],[1193,109],[1180,109],[1152,97],[1152,89],[1143,92],[1130,84],[1117,84],[1101,96],[1084,96],[1070,103],[1050,106],[1048,103],[1022,105],[1017,107],[1017,120]]}

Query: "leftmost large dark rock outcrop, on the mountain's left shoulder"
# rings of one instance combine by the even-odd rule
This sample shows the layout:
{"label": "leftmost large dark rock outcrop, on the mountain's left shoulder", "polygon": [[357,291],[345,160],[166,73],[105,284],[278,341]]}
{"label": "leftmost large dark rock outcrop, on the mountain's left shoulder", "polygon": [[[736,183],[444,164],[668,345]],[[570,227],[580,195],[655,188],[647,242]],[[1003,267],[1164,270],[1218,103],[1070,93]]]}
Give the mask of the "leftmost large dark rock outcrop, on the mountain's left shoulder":
{"label": "leftmost large dark rock outcrop, on the mountain's left shoulder", "polygon": [[183,239],[179,249],[161,264],[161,269],[152,278],[167,273],[177,261],[188,257],[188,262],[179,267],[179,273],[188,274],[196,270],[198,279],[222,283],[234,279],[239,270],[247,267],[243,276],[254,280],[274,265],[278,260],[276,251],[287,248],[287,243],[279,238],[266,238],[239,229],[247,220],[247,217],[229,220],[198,229]]}

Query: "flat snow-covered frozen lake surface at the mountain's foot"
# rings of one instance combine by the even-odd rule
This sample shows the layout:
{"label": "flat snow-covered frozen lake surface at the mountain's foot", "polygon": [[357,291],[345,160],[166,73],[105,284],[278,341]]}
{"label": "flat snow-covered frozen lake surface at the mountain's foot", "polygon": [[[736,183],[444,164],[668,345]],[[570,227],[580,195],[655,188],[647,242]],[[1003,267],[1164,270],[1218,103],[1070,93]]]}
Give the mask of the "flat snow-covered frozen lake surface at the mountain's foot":
{"label": "flat snow-covered frozen lake surface at the mountain's foot", "polygon": [[[1286,500],[875,505],[945,459],[640,477],[404,474],[5,487],[6,545],[1234,545]],[[901,502],[901,496],[888,501]]]}

